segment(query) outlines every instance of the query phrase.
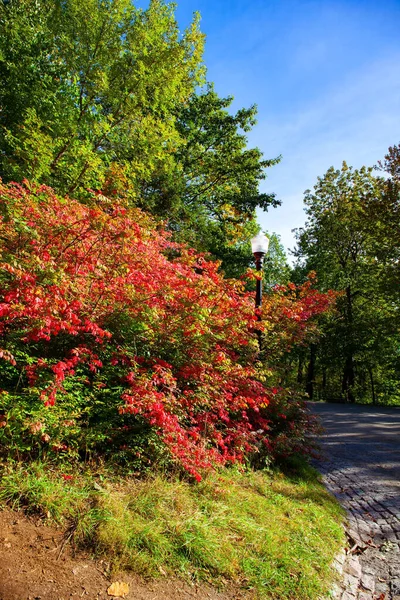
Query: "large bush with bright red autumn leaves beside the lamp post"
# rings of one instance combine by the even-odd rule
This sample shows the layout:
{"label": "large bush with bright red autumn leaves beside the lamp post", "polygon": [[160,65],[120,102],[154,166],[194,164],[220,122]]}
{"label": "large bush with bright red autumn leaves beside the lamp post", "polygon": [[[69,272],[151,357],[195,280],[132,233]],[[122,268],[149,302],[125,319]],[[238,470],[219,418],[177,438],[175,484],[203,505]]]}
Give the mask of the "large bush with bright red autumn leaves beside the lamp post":
{"label": "large bush with bright red autumn leaves beside the lamp post", "polygon": [[[255,362],[243,282],[98,194],[84,206],[44,186],[1,185],[0,214],[4,451],[112,455],[138,470],[162,461],[199,479],[215,464],[273,457],[282,432],[292,436],[291,397]],[[275,348],[288,344],[288,320],[301,341],[329,305],[315,292],[310,304],[309,288],[296,301],[287,292],[297,312],[277,304]]]}

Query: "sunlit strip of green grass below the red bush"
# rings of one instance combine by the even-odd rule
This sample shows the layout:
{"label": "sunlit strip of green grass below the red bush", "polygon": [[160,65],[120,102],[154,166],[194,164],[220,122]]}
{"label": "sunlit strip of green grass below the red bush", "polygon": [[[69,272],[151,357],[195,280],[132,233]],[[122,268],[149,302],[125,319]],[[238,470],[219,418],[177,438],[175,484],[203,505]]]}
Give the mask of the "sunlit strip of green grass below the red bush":
{"label": "sunlit strip of green grass below the red bush", "polygon": [[343,544],[342,511],[312,469],[232,469],[198,484],[161,475],[101,478],[82,473],[65,481],[40,463],[4,467],[0,501],[73,523],[75,542],[118,569],[228,580],[269,600],[328,594]]}

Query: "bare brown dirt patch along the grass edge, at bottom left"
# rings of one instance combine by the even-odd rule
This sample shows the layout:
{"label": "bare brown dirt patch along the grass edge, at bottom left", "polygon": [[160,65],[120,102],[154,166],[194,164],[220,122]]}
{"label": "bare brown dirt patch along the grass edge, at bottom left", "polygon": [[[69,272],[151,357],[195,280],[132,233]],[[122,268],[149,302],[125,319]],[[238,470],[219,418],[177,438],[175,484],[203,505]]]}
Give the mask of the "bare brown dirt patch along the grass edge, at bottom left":
{"label": "bare brown dirt patch along the grass edge, at bottom left", "polygon": [[[223,591],[161,577],[144,581],[132,573],[107,573],[106,561],[74,552],[61,529],[22,512],[0,512],[0,600],[111,600],[115,581],[127,583],[127,600],[245,600],[251,594]],[[112,591],[112,590],[111,590]]]}

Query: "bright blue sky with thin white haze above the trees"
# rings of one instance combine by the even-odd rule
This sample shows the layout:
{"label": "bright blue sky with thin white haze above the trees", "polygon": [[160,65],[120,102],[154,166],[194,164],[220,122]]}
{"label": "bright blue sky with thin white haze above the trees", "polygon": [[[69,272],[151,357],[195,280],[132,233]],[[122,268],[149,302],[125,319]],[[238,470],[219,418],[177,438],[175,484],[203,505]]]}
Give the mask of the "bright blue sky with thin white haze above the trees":
{"label": "bright blue sky with thin white haze above the trees", "polygon": [[208,80],[234,108],[258,105],[249,135],[267,158],[263,191],[282,207],[263,229],[294,247],[303,192],[343,160],[373,165],[400,143],[400,0],[178,0],[183,29],[194,11],[207,36]]}

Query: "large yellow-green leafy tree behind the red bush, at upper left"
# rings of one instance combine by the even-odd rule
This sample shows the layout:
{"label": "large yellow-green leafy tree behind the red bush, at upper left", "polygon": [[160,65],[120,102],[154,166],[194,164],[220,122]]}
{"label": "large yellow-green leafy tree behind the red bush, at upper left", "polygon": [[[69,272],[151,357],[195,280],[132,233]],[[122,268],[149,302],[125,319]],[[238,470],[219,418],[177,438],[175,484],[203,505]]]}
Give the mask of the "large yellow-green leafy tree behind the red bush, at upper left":
{"label": "large yellow-green leafy tree behind the red bush, at upper left", "polygon": [[[174,112],[204,82],[196,17],[181,35],[173,5],[152,0],[0,4],[0,173],[84,198],[174,171]],[[88,18],[90,15],[90,18]]]}

